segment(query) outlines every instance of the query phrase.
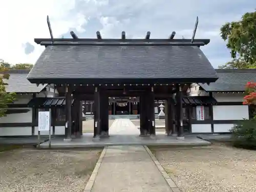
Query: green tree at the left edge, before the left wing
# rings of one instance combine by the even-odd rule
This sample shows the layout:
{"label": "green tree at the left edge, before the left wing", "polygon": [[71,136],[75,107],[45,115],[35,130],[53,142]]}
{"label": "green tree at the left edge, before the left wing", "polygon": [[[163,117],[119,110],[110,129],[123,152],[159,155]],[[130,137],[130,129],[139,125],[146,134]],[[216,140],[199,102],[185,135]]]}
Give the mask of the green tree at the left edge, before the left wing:
{"label": "green tree at the left edge, before the left wing", "polygon": [[7,83],[4,79],[9,79],[10,75],[6,73],[9,69],[6,67],[4,61],[0,62],[0,117],[5,116],[7,104],[15,100],[15,93],[6,93]]}

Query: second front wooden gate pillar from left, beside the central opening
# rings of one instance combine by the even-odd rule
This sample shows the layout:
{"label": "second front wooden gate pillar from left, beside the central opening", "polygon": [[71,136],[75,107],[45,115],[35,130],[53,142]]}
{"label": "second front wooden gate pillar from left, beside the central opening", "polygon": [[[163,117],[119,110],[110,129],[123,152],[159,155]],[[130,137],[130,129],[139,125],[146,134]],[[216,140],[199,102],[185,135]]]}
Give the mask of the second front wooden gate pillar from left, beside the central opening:
{"label": "second front wooden gate pillar from left, beside the central opening", "polygon": [[94,138],[100,136],[100,93],[98,87],[94,88]]}

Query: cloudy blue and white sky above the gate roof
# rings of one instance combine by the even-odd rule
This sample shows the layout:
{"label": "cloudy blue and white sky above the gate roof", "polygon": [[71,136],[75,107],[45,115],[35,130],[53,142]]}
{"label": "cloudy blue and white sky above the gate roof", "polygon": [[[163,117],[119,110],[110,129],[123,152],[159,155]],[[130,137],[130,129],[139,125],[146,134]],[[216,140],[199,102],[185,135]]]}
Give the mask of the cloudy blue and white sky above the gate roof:
{"label": "cloudy blue and white sky above the gate roof", "polygon": [[47,15],[54,38],[71,38],[73,30],[80,38],[191,38],[196,17],[195,38],[209,38],[202,47],[212,66],[230,60],[220,28],[239,20],[256,8],[255,0],[0,0],[0,59],[9,63],[35,63],[44,46],[34,38],[50,38]]}

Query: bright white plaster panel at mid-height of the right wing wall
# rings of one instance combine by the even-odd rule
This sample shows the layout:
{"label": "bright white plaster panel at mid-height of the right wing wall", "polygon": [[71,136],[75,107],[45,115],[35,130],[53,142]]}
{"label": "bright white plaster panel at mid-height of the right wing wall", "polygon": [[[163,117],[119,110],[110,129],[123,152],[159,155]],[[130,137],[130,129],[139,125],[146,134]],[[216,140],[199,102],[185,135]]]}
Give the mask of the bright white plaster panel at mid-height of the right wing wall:
{"label": "bright white plaster panel at mid-height of the right wing wall", "polygon": [[214,120],[249,119],[248,105],[215,105],[213,106]]}

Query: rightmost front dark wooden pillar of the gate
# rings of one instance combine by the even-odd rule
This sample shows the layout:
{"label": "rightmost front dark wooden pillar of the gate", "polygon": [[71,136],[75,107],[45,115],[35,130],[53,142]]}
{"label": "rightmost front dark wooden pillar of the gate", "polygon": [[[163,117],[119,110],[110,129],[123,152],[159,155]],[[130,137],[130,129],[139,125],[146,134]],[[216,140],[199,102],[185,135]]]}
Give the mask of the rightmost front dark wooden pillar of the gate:
{"label": "rightmost front dark wooden pillar of the gate", "polygon": [[183,114],[182,114],[182,89],[180,86],[176,86],[176,113],[177,113],[177,139],[184,139],[184,130],[183,130]]}

